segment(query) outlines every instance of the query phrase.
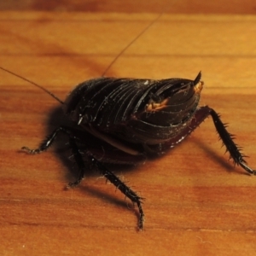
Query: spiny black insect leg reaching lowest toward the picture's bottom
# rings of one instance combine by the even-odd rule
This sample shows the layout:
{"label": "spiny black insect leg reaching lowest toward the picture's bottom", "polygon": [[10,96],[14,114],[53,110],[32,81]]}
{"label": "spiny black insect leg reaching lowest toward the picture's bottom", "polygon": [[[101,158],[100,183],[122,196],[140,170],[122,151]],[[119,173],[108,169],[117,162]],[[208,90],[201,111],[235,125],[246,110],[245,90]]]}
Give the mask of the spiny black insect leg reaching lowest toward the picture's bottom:
{"label": "spiny black insect leg reaching lowest toward the picture's bottom", "polygon": [[125,183],[123,183],[118,177],[116,177],[113,172],[108,171],[108,169],[102,165],[102,163],[91,154],[88,156],[90,161],[99,172],[102,172],[102,175],[106,177],[113,185],[119,189],[125,196],[127,196],[133,203],[137,204],[139,210],[139,220],[138,220],[138,229],[143,230],[144,222],[144,212],[142,206],[143,198],[137,195],[132,189],[130,189]]}

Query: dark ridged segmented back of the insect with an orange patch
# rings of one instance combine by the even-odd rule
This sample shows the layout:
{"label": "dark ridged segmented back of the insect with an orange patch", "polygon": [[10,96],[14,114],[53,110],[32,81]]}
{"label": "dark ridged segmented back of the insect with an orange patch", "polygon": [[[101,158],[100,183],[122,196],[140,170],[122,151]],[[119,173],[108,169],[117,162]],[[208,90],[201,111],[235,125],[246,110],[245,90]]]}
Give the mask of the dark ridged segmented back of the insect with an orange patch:
{"label": "dark ridged segmented back of the insect with an orange patch", "polygon": [[67,96],[64,110],[79,125],[131,143],[163,143],[193,116],[194,87],[189,79],[91,79]]}

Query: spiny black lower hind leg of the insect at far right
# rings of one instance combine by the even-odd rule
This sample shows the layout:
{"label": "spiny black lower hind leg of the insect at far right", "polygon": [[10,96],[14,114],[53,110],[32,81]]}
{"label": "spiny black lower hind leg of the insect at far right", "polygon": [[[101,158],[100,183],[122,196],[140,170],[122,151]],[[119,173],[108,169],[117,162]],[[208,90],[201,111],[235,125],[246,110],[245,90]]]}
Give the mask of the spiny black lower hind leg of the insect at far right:
{"label": "spiny black lower hind leg of the insect at far right", "polygon": [[[208,107],[206,106],[205,108]],[[221,121],[220,115],[216,113],[212,108],[208,108],[208,111],[212,116],[213,123],[216,130],[218,131],[218,135],[226,146],[227,151],[230,152],[230,157],[234,160],[235,165],[239,165],[245,171],[255,175],[256,171],[247,166],[246,160],[243,159],[245,155],[241,154],[241,148],[236,143],[234,143],[234,136],[226,130],[227,125]]]}

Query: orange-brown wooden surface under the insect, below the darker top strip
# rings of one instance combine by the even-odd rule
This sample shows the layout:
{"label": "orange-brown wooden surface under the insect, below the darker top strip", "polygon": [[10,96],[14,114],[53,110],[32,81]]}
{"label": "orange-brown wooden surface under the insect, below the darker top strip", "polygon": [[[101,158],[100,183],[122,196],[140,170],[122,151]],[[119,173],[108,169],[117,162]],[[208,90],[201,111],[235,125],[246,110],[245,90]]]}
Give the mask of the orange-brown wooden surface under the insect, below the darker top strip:
{"label": "orange-brown wooden surface under the insect, below the darker top strip", "polygon": [[[65,99],[157,15],[4,11],[0,65]],[[256,168],[255,39],[254,16],[162,15],[106,75],[195,79],[201,70],[201,105],[222,114]],[[146,198],[137,232],[137,210],[97,173],[64,189],[74,178],[65,137],[44,154],[20,152],[65,117],[42,90],[0,77],[2,255],[255,255],[256,177],[228,161],[212,119],[160,159],[114,169]]]}

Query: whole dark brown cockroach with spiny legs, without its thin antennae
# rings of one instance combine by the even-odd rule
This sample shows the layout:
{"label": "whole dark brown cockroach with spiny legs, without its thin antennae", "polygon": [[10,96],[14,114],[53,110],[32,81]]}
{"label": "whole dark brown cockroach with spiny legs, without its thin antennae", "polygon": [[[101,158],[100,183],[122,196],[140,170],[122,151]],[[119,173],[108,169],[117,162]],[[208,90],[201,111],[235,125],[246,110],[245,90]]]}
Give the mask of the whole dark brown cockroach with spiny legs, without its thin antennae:
{"label": "whole dark brown cockroach with spiny legs, without its thin antennae", "polygon": [[[138,228],[143,229],[143,198],[119,180],[105,166],[106,162],[137,163],[154,154],[163,154],[195,130],[209,115],[218,135],[236,165],[250,174],[244,155],[212,108],[198,107],[203,82],[201,73],[189,79],[91,79],[79,84],[63,103],[64,113],[76,128],[60,126],[37,149],[38,154],[62,132],[69,138],[79,177],[78,185],[89,166],[95,166],[139,210]],[[84,137],[90,134],[90,139]]]}

